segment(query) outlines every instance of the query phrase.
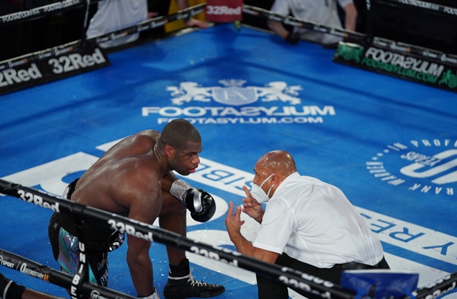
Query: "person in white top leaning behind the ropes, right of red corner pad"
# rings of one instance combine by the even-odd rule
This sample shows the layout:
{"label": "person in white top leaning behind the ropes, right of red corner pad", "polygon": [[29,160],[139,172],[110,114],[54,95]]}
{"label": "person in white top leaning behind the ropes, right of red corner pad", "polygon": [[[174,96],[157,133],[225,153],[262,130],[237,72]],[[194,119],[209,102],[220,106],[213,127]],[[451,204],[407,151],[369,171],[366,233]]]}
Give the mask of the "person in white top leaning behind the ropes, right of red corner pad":
{"label": "person in white top leaning behind the ropes, right of red corner pad", "polygon": [[[357,9],[352,0],[275,0],[271,11],[280,15],[292,15],[298,19],[342,28],[338,14],[338,5],[345,12],[344,28],[355,31]],[[325,48],[335,48],[341,37],[326,33],[319,33],[305,28],[294,27],[289,32],[282,23],[268,20],[268,27],[289,44],[297,44],[299,39],[322,44]]]}

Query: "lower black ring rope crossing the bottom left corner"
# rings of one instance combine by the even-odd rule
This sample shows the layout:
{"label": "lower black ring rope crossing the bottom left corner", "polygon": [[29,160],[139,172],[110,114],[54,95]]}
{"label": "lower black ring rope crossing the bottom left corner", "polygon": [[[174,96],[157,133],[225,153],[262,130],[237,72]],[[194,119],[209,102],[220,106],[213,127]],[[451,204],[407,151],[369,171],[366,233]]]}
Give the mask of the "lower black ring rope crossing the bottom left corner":
{"label": "lower black ring rope crossing the bottom left corner", "polygon": [[[20,255],[11,253],[9,251],[5,251],[1,248],[0,258],[2,261],[1,264],[3,264],[3,266],[30,275],[34,278],[38,278],[46,282],[51,282],[52,284],[55,284],[59,287],[63,287],[64,289],[71,290],[71,287],[73,287],[74,285],[74,277],[72,275],[53,269],[50,266],[44,266],[43,264],[39,264],[37,262],[34,262],[33,260],[28,260],[25,257],[21,257]],[[109,289],[107,287],[102,287],[98,284],[92,284],[90,282],[82,282],[80,294],[88,296],[88,298],[100,298],[92,296],[95,294],[101,295],[109,299],[136,298],[133,296],[129,296],[125,293]]]}

